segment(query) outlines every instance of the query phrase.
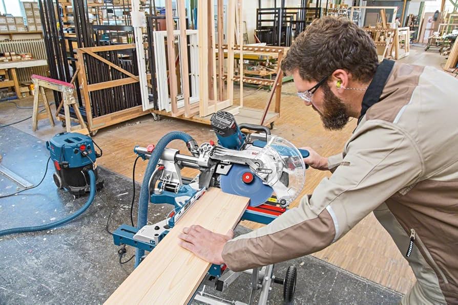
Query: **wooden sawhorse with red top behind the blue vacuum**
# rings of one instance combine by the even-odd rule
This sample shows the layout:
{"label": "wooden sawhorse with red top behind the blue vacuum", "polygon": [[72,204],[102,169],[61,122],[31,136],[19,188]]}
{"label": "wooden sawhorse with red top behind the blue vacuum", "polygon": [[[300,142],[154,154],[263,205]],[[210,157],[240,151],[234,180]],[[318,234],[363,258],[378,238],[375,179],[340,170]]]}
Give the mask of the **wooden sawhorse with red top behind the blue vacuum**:
{"label": "wooden sawhorse with red top behind the blue vacuum", "polygon": [[[67,132],[68,133],[78,132],[78,133],[85,134],[85,135],[89,134],[89,130],[86,127],[86,123],[84,119],[82,118],[81,113],[79,112],[78,104],[76,103],[75,97],[73,96],[73,91],[75,89],[75,86],[72,83],[60,81],[57,79],[44,77],[40,75],[32,75],[31,78],[35,86],[34,88],[35,96],[33,99],[33,115],[32,115],[32,130],[33,131],[37,129],[38,120],[44,119],[46,118],[46,116],[48,116],[51,125],[54,126],[54,120],[52,118],[51,108],[49,106],[48,99],[46,98],[46,94],[45,94],[45,88],[48,88],[48,89],[62,93],[62,101],[60,102],[60,105],[58,106],[58,111],[60,111],[60,108],[62,106],[64,107],[65,125],[67,128]],[[38,112],[38,100],[39,100],[40,93],[41,93],[41,96],[43,96],[46,114],[40,114]],[[73,107],[73,110],[75,111],[76,117],[79,122],[79,126],[75,126],[73,128],[71,126],[70,106]]]}

